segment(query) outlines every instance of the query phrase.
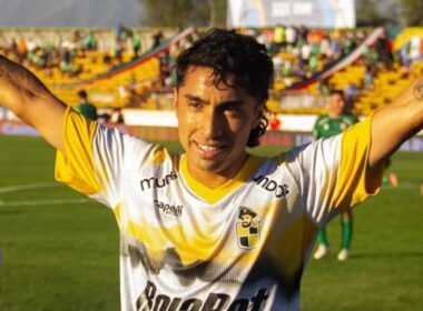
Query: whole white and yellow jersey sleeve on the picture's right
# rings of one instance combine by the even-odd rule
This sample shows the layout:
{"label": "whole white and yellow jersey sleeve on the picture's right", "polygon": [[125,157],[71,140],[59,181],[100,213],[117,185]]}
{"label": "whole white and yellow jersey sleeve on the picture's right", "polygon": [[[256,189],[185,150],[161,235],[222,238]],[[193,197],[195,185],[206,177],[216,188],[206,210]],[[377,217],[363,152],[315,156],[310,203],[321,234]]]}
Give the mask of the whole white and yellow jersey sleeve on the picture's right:
{"label": "whole white and yellow jersey sleeve on the picture's right", "polygon": [[377,192],[382,169],[367,173],[370,146],[371,118],[287,153],[303,207],[314,222],[324,224]]}

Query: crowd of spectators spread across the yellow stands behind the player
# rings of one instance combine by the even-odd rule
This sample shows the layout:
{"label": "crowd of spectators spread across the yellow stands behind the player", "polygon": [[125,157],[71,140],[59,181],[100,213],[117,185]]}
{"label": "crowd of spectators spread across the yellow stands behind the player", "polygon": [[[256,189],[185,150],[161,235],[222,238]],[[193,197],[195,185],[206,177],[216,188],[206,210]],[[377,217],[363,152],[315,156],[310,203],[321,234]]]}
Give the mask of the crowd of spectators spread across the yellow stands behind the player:
{"label": "crowd of spectators spread across the yellow stands behind the player", "polygon": [[[311,79],[334,62],[340,61],[356,49],[366,39],[373,29],[327,30],[307,29],[306,27],[293,27],[277,24],[268,29],[242,30],[246,34],[254,36],[266,46],[275,66],[274,92],[284,92],[295,83]],[[186,40],[174,44],[169,50],[158,56],[158,77],[149,84],[137,84],[135,81],[125,86],[127,107],[142,107],[153,94],[170,91],[175,83],[173,66],[178,53],[198,38],[195,32]],[[100,51],[101,61],[108,69],[116,68],[125,62],[139,58],[144,52],[159,47],[166,36],[157,30],[150,34],[149,44],[142,44],[139,31],[120,23],[115,30],[115,50]],[[372,89],[374,78],[392,67],[400,67],[407,74],[414,60],[423,54],[423,40],[417,37],[396,52],[393,50],[393,37],[388,32],[370,47],[366,47],[362,56],[355,61],[364,68],[363,79],[357,83],[345,86],[346,98],[354,100],[363,90]],[[98,38],[94,30],[85,32],[75,31],[72,36],[63,38],[60,43],[52,44],[37,37],[26,39],[14,38],[0,47],[0,52],[28,67],[45,70],[46,76],[53,69],[61,74],[78,79],[81,72],[88,70],[76,60],[85,58],[87,53],[98,50]],[[128,57],[129,56],[129,57]],[[121,86],[119,86],[121,87]],[[316,90],[321,94],[327,94],[331,80],[326,79],[317,84]]]}

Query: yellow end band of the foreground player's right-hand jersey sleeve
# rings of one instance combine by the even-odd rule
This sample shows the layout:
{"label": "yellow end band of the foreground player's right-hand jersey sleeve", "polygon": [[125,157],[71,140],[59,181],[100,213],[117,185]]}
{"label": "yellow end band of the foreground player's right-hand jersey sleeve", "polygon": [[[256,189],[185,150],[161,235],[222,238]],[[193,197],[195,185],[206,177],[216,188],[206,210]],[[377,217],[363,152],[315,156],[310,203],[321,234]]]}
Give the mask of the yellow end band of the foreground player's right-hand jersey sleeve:
{"label": "yellow end band of the foreground player's right-hand jersey sleeve", "polygon": [[372,117],[350,127],[343,133],[341,165],[337,173],[337,185],[334,205],[347,209],[368,195],[377,193],[381,187],[383,169],[368,174],[368,151],[371,147]]}

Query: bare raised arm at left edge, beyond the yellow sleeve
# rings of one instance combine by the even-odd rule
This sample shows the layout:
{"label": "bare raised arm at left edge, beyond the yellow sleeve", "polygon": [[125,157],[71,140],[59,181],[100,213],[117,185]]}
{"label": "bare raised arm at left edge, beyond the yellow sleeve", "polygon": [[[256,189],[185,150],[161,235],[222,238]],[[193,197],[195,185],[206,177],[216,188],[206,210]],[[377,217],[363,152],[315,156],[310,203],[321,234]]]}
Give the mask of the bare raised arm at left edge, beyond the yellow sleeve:
{"label": "bare raised arm at left edge, beyond the yellow sleeve", "polygon": [[35,127],[52,147],[63,150],[66,106],[28,69],[0,56],[0,106]]}

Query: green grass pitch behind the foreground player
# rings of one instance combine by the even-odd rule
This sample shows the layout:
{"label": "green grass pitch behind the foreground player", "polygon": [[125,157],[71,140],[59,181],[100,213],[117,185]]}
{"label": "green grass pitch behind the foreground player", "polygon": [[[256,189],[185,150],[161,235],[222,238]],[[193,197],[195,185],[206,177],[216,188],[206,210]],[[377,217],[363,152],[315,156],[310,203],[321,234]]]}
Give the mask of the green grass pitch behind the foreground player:
{"label": "green grass pitch behind the foreground player", "polygon": [[[119,310],[112,213],[55,183],[53,161],[40,139],[0,137],[0,310]],[[328,225],[333,255],[309,262],[302,310],[422,310],[423,154],[395,154],[390,170],[401,187],[355,210],[348,261],[335,259],[338,219]]]}

